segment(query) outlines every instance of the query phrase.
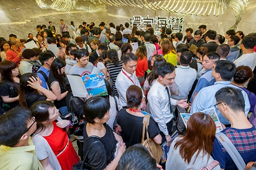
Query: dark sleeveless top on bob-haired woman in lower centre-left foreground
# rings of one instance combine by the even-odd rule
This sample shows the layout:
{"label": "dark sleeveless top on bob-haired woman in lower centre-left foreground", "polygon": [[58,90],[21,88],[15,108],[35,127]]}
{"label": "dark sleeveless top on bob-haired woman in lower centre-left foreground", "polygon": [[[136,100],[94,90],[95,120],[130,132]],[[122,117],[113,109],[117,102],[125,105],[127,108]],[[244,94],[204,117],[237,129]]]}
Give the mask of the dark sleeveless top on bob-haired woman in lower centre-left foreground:
{"label": "dark sleeveless top on bob-haired woman in lower centre-left foreground", "polygon": [[[91,166],[91,169],[102,170],[105,169],[106,166],[113,160],[114,154],[116,151],[116,139],[112,132],[112,129],[108,125],[104,125],[106,129],[106,134],[101,138],[104,145],[101,143],[96,143],[93,145],[91,150],[88,153],[88,162]],[[84,141],[88,139],[88,135],[86,132],[86,125],[84,126]],[[88,147],[93,143],[95,139],[89,140],[84,146],[84,154],[86,154]]]}

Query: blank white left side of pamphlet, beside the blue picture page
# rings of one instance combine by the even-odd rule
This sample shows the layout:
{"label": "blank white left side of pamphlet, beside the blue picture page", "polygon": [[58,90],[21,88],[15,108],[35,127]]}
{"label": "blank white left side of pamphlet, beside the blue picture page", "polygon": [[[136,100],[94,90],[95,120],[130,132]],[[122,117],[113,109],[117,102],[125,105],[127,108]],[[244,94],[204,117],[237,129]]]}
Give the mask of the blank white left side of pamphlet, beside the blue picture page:
{"label": "blank white left side of pamphlet, beside the blue picture page", "polygon": [[86,86],[84,86],[84,82],[79,75],[67,75],[67,79],[69,79],[73,96],[86,97],[88,95]]}

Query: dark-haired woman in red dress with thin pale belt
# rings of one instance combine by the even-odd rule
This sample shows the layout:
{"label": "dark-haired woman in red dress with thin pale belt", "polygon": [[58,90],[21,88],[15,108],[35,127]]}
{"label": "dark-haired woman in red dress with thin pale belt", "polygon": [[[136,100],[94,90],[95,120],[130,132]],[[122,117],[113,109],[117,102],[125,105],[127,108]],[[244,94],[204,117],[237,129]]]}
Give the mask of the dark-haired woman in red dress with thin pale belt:
{"label": "dark-haired woman in red dress with thin pale belt", "polygon": [[35,133],[47,140],[61,164],[62,170],[72,169],[72,166],[77,164],[80,159],[66,133],[70,122],[67,120],[55,122],[59,117],[59,110],[48,101],[34,103],[31,106],[31,111],[37,121]]}

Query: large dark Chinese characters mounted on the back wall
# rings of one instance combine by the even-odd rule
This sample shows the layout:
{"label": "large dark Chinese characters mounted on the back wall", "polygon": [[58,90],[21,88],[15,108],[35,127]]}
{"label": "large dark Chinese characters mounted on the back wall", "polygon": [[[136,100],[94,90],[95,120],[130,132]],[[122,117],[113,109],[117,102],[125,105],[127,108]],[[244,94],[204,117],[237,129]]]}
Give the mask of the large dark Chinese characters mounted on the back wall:
{"label": "large dark Chinese characters mounted on the back wall", "polygon": [[130,19],[130,27],[136,25],[138,28],[145,30],[147,24],[151,24],[154,30],[160,30],[161,27],[171,28],[173,32],[183,30],[183,17],[142,17],[133,16]]}

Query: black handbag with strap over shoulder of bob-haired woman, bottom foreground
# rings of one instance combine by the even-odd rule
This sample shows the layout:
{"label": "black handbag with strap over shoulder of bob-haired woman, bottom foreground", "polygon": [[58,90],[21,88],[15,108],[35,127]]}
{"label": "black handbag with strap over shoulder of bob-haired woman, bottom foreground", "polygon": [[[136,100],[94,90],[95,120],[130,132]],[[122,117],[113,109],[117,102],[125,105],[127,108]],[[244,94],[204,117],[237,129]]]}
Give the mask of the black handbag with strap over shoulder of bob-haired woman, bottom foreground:
{"label": "black handbag with strap over shoulder of bob-haired woman, bottom foreground", "polygon": [[84,154],[84,160],[83,161],[79,161],[76,165],[73,165],[72,170],[84,170],[84,169],[91,170],[90,164],[89,164],[89,162],[87,160],[87,155],[88,155],[89,151],[91,150],[93,145],[96,144],[96,143],[101,143],[104,146],[104,148],[105,148],[105,145],[102,142],[101,138],[99,138],[98,136],[90,136],[84,142],[83,151],[85,150],[84,147],[86,146],[86,143],[88,142],[88,140],[90,140],[92,138],[96,138],[97,140],[94,141],[93,143],[91,143],[91,145],[88,147],[88,150],[87,150],[86,154]]}

